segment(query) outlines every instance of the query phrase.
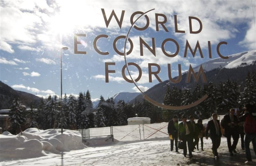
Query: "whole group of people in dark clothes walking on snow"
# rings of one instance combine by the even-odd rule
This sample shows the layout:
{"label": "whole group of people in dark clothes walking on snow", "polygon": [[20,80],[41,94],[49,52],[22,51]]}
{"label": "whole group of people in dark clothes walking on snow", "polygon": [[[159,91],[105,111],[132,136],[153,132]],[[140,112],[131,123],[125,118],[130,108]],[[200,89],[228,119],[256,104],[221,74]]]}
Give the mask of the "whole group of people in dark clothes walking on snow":
{"label": "whole group of people in dark clothes walking on snow", "polygon": [[[247,104],[244,107],[245,112],[242,114],[241,110],[235,111],[234,108],[229,110],[221,122],[218,120],[216,113],[212,114],[212,119],[208,121],[205,128],[202,124],[202,120],[199,119],[197,123],[194,122],[194,117],[189,116],[187,121],[186,116],[182,116],[182,122],[178,123],[178,116],[174,115],[173,119],[168,123],[168,133],[171,135],[171,151],[178,152],[178,142],[182,141],[183,155],[186,157],[187,149],[189,151],[189,158],[192,158],[192,152],[194,149],[199,150],[199,139],[201,141],[201,150],[203,151],[203,137],[208,139],[210,137],[212,141],[213,155],[218,158],[218,148],[221,145],[222,130],[224,129],[223,136],[227,139],[227,147],[229,149],[230,156],[233,153],[237,153],[236,148],[241,138],[241,148],[245,150],[247,161],[246,164],[252,163],[250,154],[250,142],[253,143],[253,149],[256,154],[256,110],[251,104]],[[231,137],[233,142],[231,142]]]}

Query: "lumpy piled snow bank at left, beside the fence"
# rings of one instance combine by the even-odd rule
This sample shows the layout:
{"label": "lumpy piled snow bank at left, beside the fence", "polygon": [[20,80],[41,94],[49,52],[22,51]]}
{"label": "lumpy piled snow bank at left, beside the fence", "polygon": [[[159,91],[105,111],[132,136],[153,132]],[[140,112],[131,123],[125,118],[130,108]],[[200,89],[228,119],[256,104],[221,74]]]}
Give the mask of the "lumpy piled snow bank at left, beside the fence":
{"label": "lumpy piled snow bank at left, beside the fence", "polygon": [[81,134],[78,131],[30,128],[13,135],[0,134],[0,160],[34,158],[49,153],[61,154],[62,151],[83,149]]}

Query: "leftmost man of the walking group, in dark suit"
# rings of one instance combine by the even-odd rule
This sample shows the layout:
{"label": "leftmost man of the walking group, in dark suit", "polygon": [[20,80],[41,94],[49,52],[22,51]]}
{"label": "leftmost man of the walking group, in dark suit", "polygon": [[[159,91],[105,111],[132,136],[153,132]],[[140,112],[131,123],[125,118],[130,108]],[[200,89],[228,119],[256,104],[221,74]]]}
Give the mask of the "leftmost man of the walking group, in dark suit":
{"label": "leftmost man of the walking group, in dark suit", "polygon": [[172,135],[171,151],[173,151],[173,143],[175,141],[175,151],[178,152],[178,116],[174,115],[173,119],[168,123],[168,133]]}

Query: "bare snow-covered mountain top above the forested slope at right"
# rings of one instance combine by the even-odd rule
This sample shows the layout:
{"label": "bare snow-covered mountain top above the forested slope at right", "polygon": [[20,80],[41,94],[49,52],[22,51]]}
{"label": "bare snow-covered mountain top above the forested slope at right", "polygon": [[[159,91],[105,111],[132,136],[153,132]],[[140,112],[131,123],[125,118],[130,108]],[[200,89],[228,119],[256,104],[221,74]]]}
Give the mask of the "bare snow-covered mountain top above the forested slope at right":
{"label": "bare snow-covered mountain top above the forested slope at right", "polygon": [[[242,65],[252,64],[253,61],[256,61],[256,50],[246,51],[242,53],[237,53],[229,55],[228,59],[216,58],[209,60],[205,63],[202,63],[202,67],[205,71],[210,71],[219,67],[222,68],[235,68]],[[194,71],[198,71],[200,65],[194,68]]]}

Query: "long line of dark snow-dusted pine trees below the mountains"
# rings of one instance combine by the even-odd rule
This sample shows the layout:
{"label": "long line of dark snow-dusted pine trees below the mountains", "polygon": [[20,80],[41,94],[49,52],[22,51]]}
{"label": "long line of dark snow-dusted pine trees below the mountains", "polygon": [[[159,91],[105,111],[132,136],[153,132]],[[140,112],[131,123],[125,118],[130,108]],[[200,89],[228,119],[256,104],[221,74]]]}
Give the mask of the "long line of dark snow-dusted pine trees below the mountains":
{"label": "long line of dark snow-dusted pine trees below the mountains", "polygon": [[[194,115],[196,118],[209,118],[213,112],[226,113],[230,108],[239,108],[243,104],[256,104],[256,73],[248,73],[245,87],[240,89],[239,82],[227,80],[214,85],[212,82],[203,86],[197,85],[194,89],[177,89],[167,85],[163,104],[181,106],[191,104],[204,95],[208,98],[202,103],[186,110],[165,110],[154,106],[150,102],[135,101],[134,104],[120,100],[114,102],[113,98],[100,97],[97,108],[93,108],[89,90],[79,93],[78,98],[65,94],[63,100],[57,96],[41,98],[38,106],[31,105],[28,111],[19,99],[15,99],[9,111],[9,131],[19,133],[26,128],[51,129],[87,129],[127,125],[130,117],[150,117],[151,123],[169,121],[174,114]],[[34,108],[37,108],[35,111]],[[61,116],[61,112],[63,113]]]}

